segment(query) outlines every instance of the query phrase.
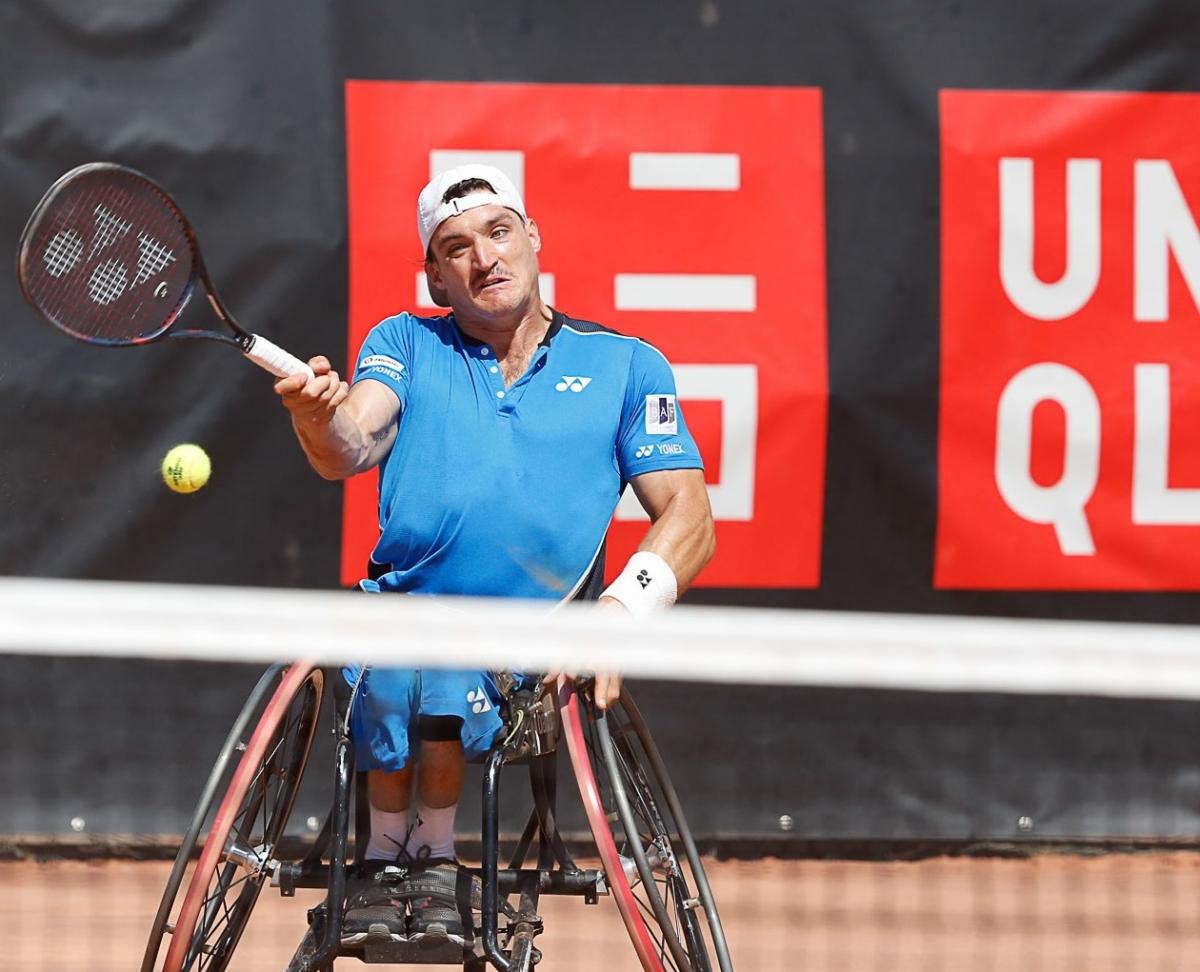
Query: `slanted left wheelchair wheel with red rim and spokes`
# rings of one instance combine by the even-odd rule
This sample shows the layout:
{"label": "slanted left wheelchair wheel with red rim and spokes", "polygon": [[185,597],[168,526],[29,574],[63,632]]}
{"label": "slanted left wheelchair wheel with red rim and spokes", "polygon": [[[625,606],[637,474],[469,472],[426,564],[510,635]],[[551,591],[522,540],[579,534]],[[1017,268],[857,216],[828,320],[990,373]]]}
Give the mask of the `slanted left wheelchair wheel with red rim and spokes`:
{"label": "slanted left wheelchair wheel with red rim and spokes", "polygon": [[[324,674],[290,666],[217,806],[170,934],[162,972],[221,972],[245,931],[300,788]],[[161,936],[160,936],[161,937]]]}

